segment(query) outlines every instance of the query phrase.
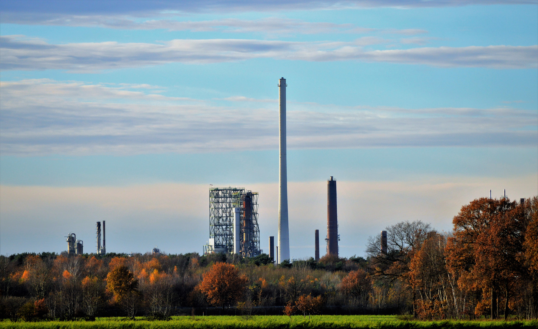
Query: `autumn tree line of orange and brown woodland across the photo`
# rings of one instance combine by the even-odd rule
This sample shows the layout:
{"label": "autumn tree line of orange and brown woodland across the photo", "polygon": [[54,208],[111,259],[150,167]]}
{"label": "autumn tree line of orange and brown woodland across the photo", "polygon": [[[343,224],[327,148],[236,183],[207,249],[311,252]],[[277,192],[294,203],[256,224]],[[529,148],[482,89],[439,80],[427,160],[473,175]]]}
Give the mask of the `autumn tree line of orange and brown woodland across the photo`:
{"label": "autumn tree line of orange and brown woodland across the photo", "polygon": [[146,316],[176,307],[324,306],[395,310],[419,319],[538,316],[538,198],[480,198],[451,232],[402,221],[367,242],[366,259],[325,255],[274,264],[268,255],[0,256],[0,317],[11,320]]}

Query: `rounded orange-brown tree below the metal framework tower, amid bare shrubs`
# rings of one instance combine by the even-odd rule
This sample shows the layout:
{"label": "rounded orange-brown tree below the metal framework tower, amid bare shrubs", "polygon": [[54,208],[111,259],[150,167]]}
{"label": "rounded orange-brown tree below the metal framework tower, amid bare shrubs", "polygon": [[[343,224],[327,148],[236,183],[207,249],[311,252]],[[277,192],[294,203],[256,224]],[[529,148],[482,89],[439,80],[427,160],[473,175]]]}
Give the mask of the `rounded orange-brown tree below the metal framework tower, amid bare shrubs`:
{"label": "rounded orange-brown tree below the metal framework tower, amid bare shrubs", "polygon": [[222,306],[224,309],[224,306],[235,304],[239,300],[247,282],[246,276],[239,275],[235,266],[219,262],[203,274],[199,287],[210,304]]}

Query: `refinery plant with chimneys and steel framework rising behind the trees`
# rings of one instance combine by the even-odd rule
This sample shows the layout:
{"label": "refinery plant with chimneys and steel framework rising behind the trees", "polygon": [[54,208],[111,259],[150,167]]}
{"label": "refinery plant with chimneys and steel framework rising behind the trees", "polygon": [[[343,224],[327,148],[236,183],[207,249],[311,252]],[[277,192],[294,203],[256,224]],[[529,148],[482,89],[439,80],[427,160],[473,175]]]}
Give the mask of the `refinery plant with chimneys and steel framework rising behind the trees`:
{"label": "refinery plant with chimneys and steel framework rising behind the trees", "polygon": [[[286,161],[286,79],[278,81],[279,89],[279,204],[278,204],[278,245],[274,237],[269,237],[268,254],[271,260],[280,263],[289,260],[288,229],[288,188]],[[97,221],[96,254],[106,254],[105,221],[103,220],[103,239],[101,222]],[[336,179],[327,181],[327,254],[338,256],[338,219],[336,211]],[[76,240],[74,233],[67,237],[68,253],[82,254],[82,241]],[[102,241],[102,242],[101,242]],[[385,239],[386,241],[386,239]],[[274,253],[276,248],[277,252]],[[236,254],[252,258],[263,253],[260,248],[260,229],[258,225],[258,193],[245,188],[209,189],[209,241],[203,246],[203,254]],[[130,255],[134,255],[131,253]],[[152,254],[160,254],[155,246]],[[315,260],[320,259],[319,230],[315,231]]]}

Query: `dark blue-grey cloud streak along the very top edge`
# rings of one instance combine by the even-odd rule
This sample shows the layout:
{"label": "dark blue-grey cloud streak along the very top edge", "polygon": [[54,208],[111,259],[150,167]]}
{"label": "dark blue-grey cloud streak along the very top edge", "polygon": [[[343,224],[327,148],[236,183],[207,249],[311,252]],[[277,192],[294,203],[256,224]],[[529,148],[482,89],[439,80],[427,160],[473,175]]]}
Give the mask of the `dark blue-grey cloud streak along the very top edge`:
{"label": "dark blue-grey cloud streak along the very top edge", "polygon": [[286,12],[300,10],[347,10],[371,8],[443,8],[468,5],[517,5],[536,4],[535,0],[260,0],[256,2],[242,0],[183,0],[136,2],[111,0],[107,2],[61,0],[3,0],[2,21],[13,22],[13,16],[24,17],[27,21],[59,19],[62,16],[131,16],[155,17],[176,16],[192,13],[232,13],[232,12]]}

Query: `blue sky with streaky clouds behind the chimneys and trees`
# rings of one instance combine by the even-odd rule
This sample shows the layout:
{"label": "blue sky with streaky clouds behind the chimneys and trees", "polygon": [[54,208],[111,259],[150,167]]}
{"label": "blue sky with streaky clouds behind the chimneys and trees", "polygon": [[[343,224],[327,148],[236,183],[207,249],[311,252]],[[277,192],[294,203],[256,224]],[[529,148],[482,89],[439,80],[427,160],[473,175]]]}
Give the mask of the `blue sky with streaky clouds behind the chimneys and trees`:
{"label": "blue sky with streaky clouds behind the chimneys and trees", "polygon": [[[209,188],[278,235],[287,79],[292,259],[337,180],[339,254],[475,198],[538,195],[537,1],[0,2],[0,254],[202,252]],[[275,238],[276,240],[276,238]]]}

